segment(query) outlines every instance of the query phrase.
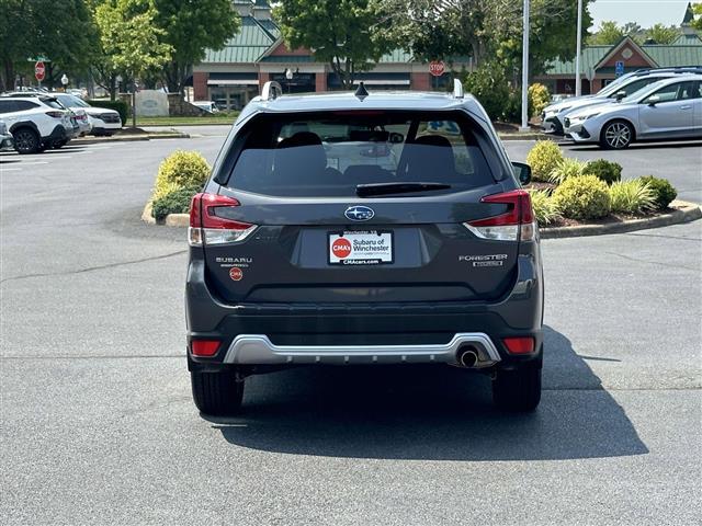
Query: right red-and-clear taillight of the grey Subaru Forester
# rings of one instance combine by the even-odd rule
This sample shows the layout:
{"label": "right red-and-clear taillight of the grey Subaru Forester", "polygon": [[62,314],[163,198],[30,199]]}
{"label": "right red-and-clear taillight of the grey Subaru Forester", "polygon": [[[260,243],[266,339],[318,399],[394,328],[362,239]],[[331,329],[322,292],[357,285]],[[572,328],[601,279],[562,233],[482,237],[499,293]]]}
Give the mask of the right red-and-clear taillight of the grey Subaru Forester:
{"label": "right red-and-clear taillight of the grey Subaru Forester", "polygon": [[495,241],[533,241],[536,239],[537,227],[529,192],[513,190],[502,194],[486,195],[480,199],[480,203],[505,204],[508,205],[508,209],[499,216],[463,224],[478,238]]}

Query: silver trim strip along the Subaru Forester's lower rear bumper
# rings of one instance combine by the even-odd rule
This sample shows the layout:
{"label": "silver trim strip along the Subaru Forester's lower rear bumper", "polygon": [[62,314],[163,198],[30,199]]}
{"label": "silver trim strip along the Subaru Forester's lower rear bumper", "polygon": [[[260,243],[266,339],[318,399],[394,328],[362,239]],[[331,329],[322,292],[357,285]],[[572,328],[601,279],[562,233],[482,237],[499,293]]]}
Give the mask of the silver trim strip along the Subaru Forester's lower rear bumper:
{"label": "silver trim strip along the Subaru Forester's lower rear bumper", "polygon": [[422,345],[275,345],[264,334],[239,334],[224,357],[225,364],[361,364],[445,363],[457,365],[456,353],[474,346],[478,367],[500,361],[490,338],[483,332],[462,332],[449,343]]}

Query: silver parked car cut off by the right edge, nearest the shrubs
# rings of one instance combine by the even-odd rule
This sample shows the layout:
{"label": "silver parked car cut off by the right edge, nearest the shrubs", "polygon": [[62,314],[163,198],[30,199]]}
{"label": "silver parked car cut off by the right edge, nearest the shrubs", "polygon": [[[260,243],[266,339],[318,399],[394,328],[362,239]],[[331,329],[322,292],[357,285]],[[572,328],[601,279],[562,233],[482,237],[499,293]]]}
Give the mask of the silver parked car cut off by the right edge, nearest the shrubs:
{"label": "silver parked car cut off by the right edge, nearest the shrubs", "polygon": [[702,76],[655,82],[620,102],[581,108],[565,118],[576,142],[622,149],[634,141],[702,138]]}

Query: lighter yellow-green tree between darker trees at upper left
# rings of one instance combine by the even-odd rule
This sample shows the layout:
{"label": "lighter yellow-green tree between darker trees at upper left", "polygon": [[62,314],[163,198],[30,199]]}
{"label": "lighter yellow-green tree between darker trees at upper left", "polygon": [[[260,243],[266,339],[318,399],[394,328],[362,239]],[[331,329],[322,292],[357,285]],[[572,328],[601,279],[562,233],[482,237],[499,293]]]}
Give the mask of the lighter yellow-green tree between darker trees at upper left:
{"label": "lighter yellow-green tree between darker trees at upper left", "polygon": [[99,82],[109,87],[113,100],[117,75],[137,79],[170,60],[172,47],[161,42],[166,32],[155,25],[156,14],[152,0],[109,0],[95,8]]}

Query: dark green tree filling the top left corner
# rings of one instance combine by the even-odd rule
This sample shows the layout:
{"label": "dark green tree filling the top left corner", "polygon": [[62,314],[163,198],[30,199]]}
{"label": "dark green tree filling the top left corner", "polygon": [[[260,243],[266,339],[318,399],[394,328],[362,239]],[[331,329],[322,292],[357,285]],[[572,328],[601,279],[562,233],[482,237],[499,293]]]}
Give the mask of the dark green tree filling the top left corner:
{"label": "dark green tree filling the top left corner", "polygon": [[53,87],[67,73],[87,70],[97,32],[83,0],[0,0],[0,89],[12,89],[18,71],[30,71],[27,58],[46,56],[46,80]]}

